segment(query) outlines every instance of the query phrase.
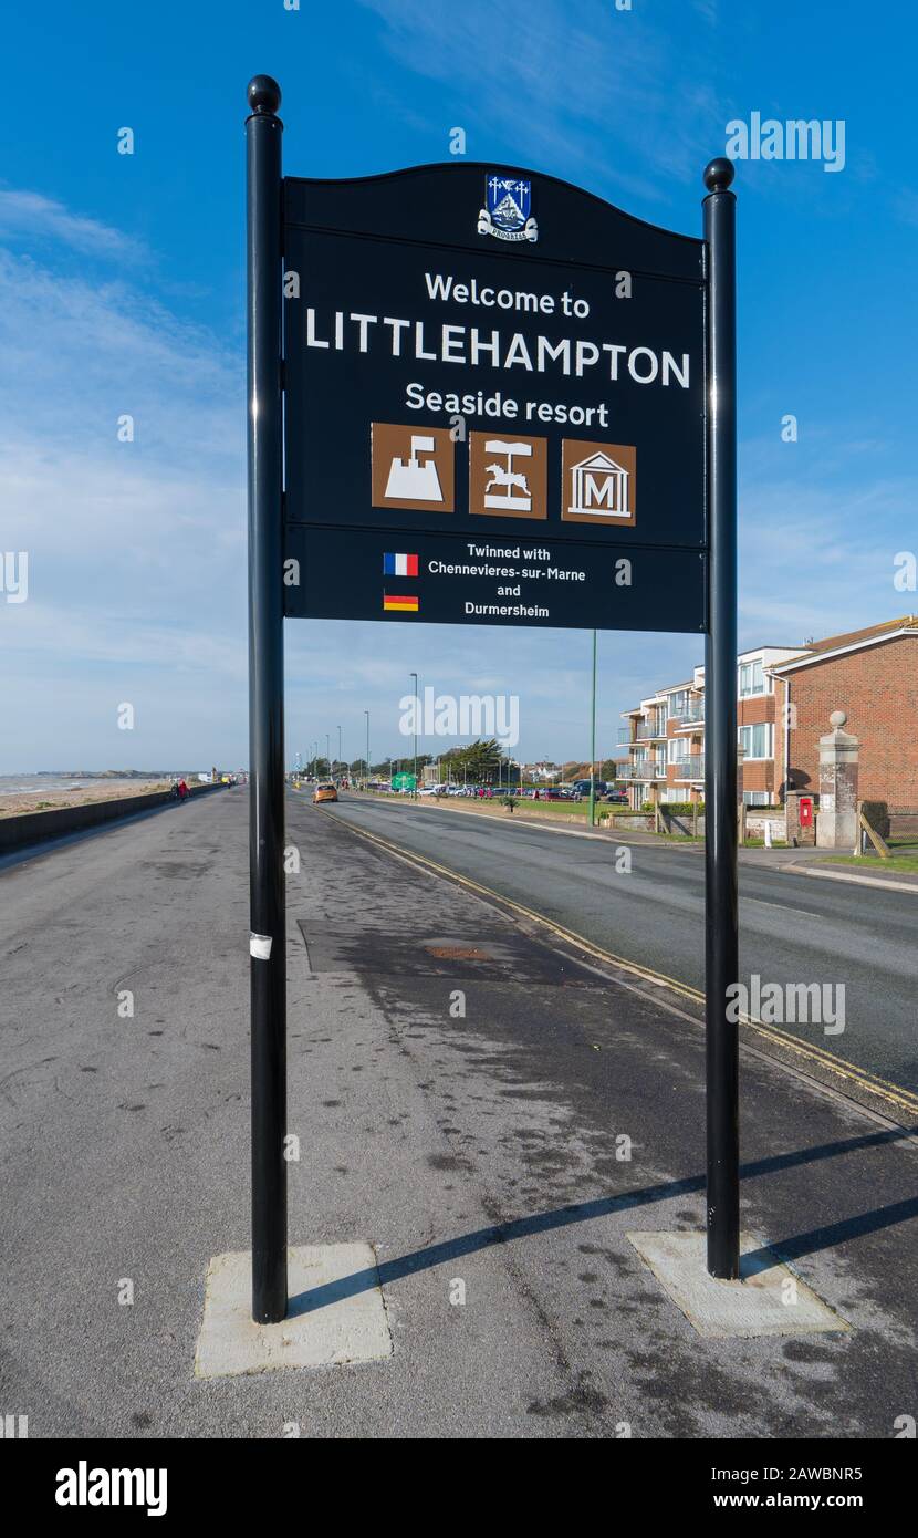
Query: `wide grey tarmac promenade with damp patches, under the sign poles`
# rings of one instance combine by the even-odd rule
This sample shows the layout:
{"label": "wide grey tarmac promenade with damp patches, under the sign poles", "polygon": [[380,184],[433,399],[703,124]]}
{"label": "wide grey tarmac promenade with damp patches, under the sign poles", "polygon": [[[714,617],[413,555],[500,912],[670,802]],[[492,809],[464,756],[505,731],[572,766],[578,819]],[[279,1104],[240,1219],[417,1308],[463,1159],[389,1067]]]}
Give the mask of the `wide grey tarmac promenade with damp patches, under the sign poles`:
{"label": "wide grey tarmac promenade with damp patches, under the sign poles", "polygon": [[35,1440],[892,1436],[915,1143],[744,1054],[743,1227],[850,1329],[700,1337],[627,1235],[704,1227],[701,1029],[344,815],[289,798],[289,1233],[375,1247],[392,1355],[194,1377],[208,1263],[251,1233],[234,789],[0,872],[3,1413]]}

